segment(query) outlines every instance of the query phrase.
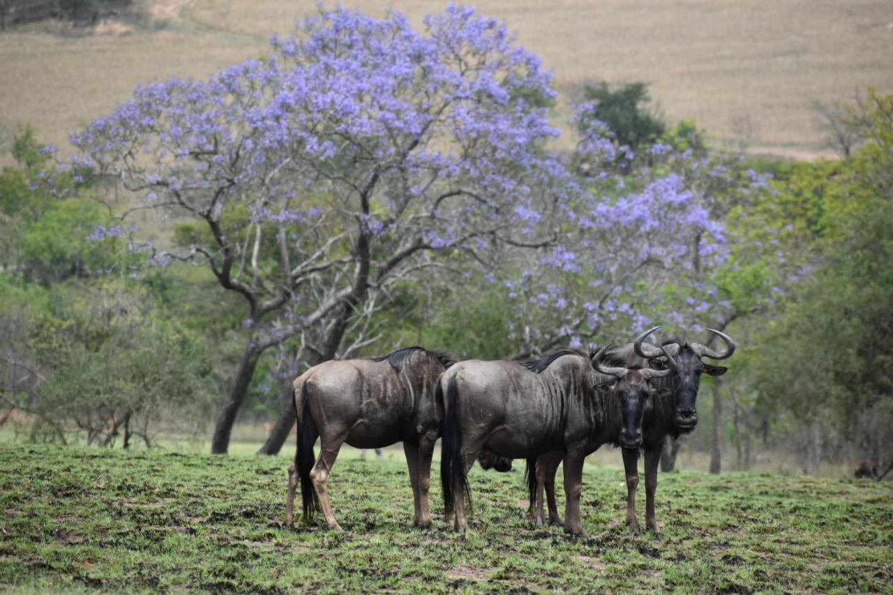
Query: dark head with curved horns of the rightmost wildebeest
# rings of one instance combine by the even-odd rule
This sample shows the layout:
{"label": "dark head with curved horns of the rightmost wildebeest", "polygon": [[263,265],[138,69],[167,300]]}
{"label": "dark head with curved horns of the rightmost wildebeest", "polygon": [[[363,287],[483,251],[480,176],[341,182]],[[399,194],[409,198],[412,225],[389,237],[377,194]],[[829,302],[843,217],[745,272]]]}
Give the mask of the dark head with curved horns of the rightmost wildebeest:
{"label": "dark head with curved horns of the rightmost wildebeest", "polygon": [[636,338],[633,347],[639,357],[645,357],[649,361],[663,362],[663,365],[672,371],[672,390],[676,393],[676,419],[674,421],[680,430],[691,431],[697,424],[695,402],[701,374],[722,376],[728,370],[728,368],[719,365],[705,364],[701,358],[727,359],[735,353],[735,341],[720,331],[707,329],[726,344],[724,351],[714,351],[700,343],[668,341],[661,347],[643,343],[648,335],[659,328],[661,327],[655,326],[655,328],[643,332]]}

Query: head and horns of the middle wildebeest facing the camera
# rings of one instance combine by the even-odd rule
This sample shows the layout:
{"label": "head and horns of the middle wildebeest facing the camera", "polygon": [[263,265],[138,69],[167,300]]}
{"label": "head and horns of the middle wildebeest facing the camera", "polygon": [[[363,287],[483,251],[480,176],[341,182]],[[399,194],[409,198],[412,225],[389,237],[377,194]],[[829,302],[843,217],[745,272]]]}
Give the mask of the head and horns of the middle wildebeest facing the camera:
{"label": "head and horns of the middle wildebeest facing the camera", "polygon": [[598,350],[592,358],[592,366],[597,373],[614,378],[610,384],[603,385],[602,390],[608,390],[620,399],[620,445],[622,448],[639,448],[642,445],[642,418],[645,416],[648,397],[654,390],[649,381],[668,376],[672,370],[669,367],[655,370],[602,365],[602,359],[608,348],[610,346]]}

